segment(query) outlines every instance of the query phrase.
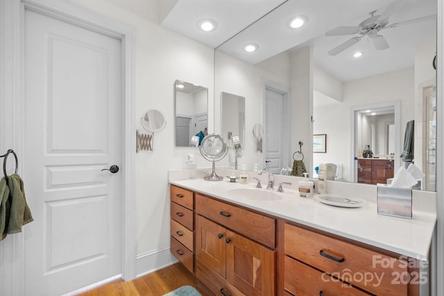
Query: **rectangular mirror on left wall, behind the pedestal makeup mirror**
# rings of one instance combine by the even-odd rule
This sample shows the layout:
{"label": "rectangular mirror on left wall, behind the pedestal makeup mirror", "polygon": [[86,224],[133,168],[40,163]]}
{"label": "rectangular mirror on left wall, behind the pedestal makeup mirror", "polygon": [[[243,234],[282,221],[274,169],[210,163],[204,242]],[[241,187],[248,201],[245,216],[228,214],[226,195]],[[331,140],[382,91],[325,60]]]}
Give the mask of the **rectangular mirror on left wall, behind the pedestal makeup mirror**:
{"label": "rectangular mirror on left wall, behind the pedestal makeup mirror", "polygon": [[[208,89],[182,80],[174,82],[176,146],[191,146],[191,137],[207,132]],[[203,137],[201,137],[203,139]],[[201,141],[201,140],[200,140]]]}

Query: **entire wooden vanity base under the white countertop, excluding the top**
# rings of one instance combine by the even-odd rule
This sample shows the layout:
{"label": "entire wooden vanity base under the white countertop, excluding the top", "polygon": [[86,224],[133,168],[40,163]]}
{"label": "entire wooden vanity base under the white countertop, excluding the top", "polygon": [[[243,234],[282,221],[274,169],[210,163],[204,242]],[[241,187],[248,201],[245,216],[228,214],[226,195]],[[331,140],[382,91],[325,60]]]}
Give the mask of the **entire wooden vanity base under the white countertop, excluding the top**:
{"label": "entire wooden vanity base under the white countertop, excluding the top", "polygon": [[171,253],[214,295],[419,295],[416,259],[173,185]]}

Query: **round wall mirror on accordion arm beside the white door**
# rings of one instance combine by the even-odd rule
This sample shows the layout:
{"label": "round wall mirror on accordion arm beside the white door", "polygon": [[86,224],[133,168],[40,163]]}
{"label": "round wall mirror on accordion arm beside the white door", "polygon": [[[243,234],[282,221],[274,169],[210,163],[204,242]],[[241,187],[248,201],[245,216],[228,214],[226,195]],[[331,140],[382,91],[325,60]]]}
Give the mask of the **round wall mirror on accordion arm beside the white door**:
{"label": "round wall mirror on accordion arm beside the white door", "polygon": [[139,130],[136,130],[136,153],[139,153],[139,150],[153,151],[154,133],[161,132],[167,125],[167,121],[158,110],[146,111],[140,121],[142,127],[151,134],[141,134]]}

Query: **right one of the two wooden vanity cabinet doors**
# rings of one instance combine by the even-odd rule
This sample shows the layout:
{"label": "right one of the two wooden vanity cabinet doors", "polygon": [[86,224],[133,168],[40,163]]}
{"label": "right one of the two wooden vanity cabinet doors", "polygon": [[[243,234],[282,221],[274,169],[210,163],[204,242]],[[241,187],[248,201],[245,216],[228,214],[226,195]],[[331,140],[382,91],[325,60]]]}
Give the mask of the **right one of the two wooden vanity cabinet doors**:
{"label": "right one of the two wooden vanity cabinet doors", "polygon": [[226,279],[248,296],[275,295],[275,251],[227,230]]}

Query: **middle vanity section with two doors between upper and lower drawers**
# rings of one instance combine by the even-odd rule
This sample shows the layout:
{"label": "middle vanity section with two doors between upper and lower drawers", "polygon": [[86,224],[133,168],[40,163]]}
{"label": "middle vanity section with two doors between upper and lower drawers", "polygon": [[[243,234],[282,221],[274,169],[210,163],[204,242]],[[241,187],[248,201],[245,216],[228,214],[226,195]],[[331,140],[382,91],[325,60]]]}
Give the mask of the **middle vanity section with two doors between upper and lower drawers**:
{"label": "middle vanity section with two doors between upper and lower drawers", "polygon": [[260,241],[275,242],[259,235],[274,238],[275,220],[198,194],[196,213],[197,277],[217,295],[275,295],[275,251]]}

